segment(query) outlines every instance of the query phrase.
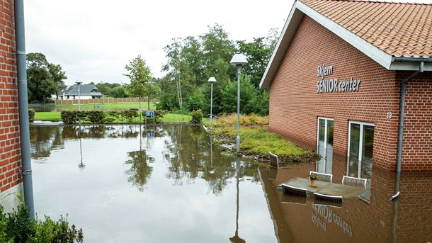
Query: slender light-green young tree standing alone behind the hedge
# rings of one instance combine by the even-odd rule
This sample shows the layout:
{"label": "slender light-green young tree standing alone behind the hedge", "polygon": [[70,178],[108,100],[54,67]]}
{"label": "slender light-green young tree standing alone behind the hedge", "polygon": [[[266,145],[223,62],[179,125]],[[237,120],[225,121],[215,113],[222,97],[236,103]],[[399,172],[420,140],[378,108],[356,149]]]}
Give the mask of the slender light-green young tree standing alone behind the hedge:
{"label": "slender light-green young tree standing alone behind the hedge", "polygon": [[149,93],[153,89],[150,68],[141,55],[138,55],[125,65],[125,69],[129,72],[129,74],[123,74],[130,79],[130,84],[127,86],[129,94],[132,97],[140,98],[140,108],[141,98],[147,96],[148,109],[150,109]]}

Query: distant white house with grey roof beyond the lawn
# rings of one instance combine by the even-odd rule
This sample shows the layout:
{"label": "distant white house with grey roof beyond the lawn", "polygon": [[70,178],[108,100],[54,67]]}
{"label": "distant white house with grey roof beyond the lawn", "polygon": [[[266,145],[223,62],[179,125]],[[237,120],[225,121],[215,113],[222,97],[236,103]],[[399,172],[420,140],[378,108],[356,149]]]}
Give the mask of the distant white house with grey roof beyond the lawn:
{"label": "distant white house with grey roof beyond the lawn", "polygon": [[95,84],[80,84],[71,86],[62,86],[59,92],[60,100],[89,100],[92,98],[102,98],[103,94]]}

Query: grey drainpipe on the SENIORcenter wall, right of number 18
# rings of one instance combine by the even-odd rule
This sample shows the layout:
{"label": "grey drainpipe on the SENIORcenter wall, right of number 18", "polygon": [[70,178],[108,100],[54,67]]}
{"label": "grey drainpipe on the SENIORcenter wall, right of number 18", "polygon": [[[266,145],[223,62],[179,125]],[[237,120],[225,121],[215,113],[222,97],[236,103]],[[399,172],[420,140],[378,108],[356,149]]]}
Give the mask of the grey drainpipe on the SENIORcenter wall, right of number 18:
{"label": "grey drainpipe on the SENIORcenter wall, right of number 18", "polygon": [[[405,60],[404,61],[411,61],[411,60]],[[414,59],[415,60],[415,59]],[[411,62],[414,62],[412,60]],[[405,95],[407,94],[407,83],[414,79],[415,77],[419,76],[424,71],[424,62],[419,63],[419,71],[414,72],[414,74],[411,74],[407,79],[402,81],[402,89],[401,89],[401,108],[400,108],[400,118],[399,118],[399,141],[397,144],[397,172],[401,172],[402,170],[402,142],[404,140],[404,118],[405,118]],[[398,190],[399,191],[399,190]]]}

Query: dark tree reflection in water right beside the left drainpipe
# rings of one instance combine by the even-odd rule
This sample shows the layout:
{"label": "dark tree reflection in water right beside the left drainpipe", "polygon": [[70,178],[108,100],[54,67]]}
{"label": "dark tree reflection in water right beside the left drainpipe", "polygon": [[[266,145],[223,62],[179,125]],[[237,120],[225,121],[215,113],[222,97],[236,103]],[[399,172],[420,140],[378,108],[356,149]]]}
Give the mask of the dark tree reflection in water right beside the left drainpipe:
{"label": "dark tree reflection in water right beside the left drainpipe", "polygon": [[49,157],[51,150],[63,148],[60,127],[31,127],[30,150],[33,159]]}

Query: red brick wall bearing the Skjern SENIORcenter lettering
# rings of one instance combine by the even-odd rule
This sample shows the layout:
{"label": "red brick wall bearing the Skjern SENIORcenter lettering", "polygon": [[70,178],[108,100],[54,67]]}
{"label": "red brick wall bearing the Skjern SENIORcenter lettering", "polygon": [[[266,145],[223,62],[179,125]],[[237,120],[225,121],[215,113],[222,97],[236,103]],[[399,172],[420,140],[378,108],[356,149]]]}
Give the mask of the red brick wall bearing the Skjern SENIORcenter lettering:
{"label": "red brick wall bearing the Skjern SENIORcenter lettering", "polygon": [[[317,93],[320,64],[333,66],[326,78],[360,79],[358,91]],[[385,69],[304,16],[271,82],[270,129],[316,150],[317,118],[334,119],[333,174],[341,177],[347,170],[349,121],[373,123],[373,168],[395,171],[400,84],[412,73]],[[406,97],[402,171],[432,171],[431,72],[410,81]]]}

